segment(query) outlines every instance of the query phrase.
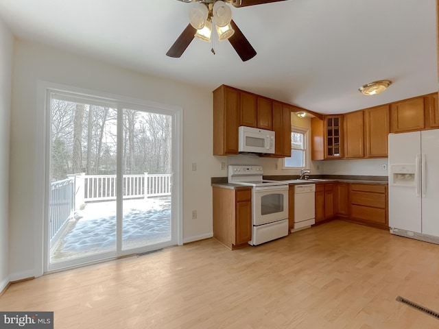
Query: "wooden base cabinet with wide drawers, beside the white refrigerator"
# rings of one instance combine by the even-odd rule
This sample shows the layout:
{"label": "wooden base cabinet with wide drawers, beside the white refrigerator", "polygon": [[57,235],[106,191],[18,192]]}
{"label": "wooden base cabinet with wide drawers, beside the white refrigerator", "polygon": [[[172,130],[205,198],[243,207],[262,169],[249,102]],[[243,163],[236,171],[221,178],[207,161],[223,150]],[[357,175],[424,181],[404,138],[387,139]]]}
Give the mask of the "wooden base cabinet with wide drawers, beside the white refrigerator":
{"label": "wooden base cabinet with wide drawers, beside the white refrigerator", "polygon": [[388,228],[388,187],[352,183],[349,219],[378,228]]}

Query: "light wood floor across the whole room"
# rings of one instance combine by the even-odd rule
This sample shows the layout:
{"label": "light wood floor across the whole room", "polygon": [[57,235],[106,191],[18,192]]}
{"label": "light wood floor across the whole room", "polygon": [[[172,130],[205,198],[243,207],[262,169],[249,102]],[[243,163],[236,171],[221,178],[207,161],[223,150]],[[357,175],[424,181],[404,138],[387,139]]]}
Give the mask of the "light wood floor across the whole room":
{"label": "light wood floor across the whole room", "polygon": [[439,328],[439,245],[333,221],[231,252],[213,239],[12,284],[55,328]]}

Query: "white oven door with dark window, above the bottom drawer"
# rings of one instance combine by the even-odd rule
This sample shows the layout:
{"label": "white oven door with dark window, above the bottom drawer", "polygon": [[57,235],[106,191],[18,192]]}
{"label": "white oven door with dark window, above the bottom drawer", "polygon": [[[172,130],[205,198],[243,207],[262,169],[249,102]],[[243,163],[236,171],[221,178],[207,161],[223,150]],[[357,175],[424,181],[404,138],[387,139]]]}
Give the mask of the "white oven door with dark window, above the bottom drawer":
{"label": "white oven door with dark window, above the bottom drawer", "polygon": [[288,218],[288,185],[253,188],[253,225]]}

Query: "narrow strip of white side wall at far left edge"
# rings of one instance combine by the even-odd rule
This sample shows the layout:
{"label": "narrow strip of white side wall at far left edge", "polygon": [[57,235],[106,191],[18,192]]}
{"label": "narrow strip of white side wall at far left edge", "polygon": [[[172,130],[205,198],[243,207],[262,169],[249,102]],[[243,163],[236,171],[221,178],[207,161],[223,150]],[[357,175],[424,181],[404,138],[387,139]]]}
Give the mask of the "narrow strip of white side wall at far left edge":
{"label": "narrow strip of white side wall at far left edge", "polygon": [[14,39],[0,19],[0,291],[9,278],[9,132]]}

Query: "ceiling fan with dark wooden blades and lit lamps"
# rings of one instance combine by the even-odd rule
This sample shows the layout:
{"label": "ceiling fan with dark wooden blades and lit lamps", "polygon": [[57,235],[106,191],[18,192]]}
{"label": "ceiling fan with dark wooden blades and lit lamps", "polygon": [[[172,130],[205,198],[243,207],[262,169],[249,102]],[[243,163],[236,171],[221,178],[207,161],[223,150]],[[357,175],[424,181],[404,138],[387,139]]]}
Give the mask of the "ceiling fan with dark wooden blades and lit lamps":
{"label": "ceiling fan with dark wooden blades and lit lamps", "polygon": [[[178,0],[182,2],[195,2],[189,12],[189,24],[182,34],[169,48],[166,55],[179,58],[185,52],[193,38],[210,42],[212,25],[215,25],[219,40],[228,40],[243,62],[256,55],[247,38],[232,19],[232,12],[226,3],[235,8],[248,5],[261,5],[285,0]],[[215,51],[212,52],[215,53]]]}

